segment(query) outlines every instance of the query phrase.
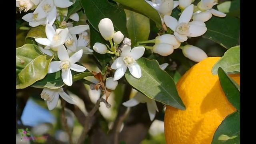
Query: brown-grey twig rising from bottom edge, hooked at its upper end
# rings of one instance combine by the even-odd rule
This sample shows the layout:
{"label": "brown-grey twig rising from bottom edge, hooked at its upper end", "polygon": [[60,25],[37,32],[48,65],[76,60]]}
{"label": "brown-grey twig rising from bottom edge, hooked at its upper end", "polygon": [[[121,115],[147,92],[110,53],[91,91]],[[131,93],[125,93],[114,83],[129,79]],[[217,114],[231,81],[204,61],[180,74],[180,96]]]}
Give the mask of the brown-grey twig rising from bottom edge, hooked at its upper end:
{"label": "brown-grey twig rising from bottom edge, hooked at its upper end", "polygon": [[89,122],[90,119],[92,118],[92,116],[95,114],[95,112],[98,110],[98,108],[100,107],[100,102],[104,102],[106,104],[107,108],[110,108],[111,105],[108,104],[108,102],[104,99],[104,98],[99,98],[94,106],[94,108],[92,108],[92,110],[88,113],[88,116],[85,119],[84,122],[84,130],[82,131],[82,134],[80,135],[77,144],[82,144],[82,142],[84,141],[88,131],[90,130],[89,128]]}

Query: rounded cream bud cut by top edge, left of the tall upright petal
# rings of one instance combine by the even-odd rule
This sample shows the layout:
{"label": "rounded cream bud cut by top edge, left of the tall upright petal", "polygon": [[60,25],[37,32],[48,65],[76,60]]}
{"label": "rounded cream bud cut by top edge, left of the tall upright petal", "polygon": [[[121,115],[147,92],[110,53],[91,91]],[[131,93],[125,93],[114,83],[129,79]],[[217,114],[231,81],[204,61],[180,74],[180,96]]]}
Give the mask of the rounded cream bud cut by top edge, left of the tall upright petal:
{"label": "rounded cream bud cut by top edge, left of the tall upright petal", "polygon": [[173,0],[162,0],[158,11],[162,15],[171,15],[172,9]]}

